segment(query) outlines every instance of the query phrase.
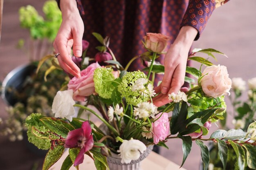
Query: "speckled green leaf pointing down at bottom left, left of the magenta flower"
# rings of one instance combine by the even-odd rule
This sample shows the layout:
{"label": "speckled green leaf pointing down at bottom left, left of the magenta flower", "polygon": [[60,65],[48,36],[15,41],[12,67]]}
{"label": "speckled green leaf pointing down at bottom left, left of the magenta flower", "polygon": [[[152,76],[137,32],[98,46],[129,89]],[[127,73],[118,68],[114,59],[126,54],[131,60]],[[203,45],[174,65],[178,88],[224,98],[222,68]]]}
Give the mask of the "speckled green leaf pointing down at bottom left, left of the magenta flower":
{"label": "speckled green leaf pointing down at bottom left, left of the magenta flower", "polygon": [[56,163],[62,156],[64,152],[64,146],[57,145],[53,150],[49,150],[45,156],[45,161],[43,163],[43,170],[48,170]]}

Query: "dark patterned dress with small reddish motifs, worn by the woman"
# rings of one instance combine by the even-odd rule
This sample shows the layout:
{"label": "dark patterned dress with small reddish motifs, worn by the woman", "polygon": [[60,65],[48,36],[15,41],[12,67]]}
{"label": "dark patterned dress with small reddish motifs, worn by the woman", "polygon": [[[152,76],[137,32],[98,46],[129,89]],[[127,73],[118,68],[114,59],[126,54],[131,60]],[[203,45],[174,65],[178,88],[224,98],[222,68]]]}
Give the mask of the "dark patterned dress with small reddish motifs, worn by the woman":
{"label": "dark patterned dress with small reddish motifs, worn by the woman", "polygon": [[[90,42],[88,56],[100,45],[92,32],[110,37],[110,48],[124,66],[145,51],[141,40],[147,32],[171,37],[174,42],[182,26],[193,26],[200,37],[213,10],[228,0],[76,0],[84,22],[83,39]],[[57,0],[59,2],[59,0]],[[164,57],[158,61],[163,64]],[[136,60],[131,70],[142,67]]]}

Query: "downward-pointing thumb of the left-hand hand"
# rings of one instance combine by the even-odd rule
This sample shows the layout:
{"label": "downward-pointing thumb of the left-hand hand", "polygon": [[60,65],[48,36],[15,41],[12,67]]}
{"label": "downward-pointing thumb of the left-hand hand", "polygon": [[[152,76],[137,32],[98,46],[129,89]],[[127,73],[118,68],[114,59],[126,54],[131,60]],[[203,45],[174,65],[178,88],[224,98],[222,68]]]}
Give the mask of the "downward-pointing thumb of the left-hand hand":
{"label": "downward-pointing thumb of the left-hand hand", "polygon": [[83,39],[83,32],[76,29],[73,32],[73,53],[76,57],[82,56],[82,39]]}

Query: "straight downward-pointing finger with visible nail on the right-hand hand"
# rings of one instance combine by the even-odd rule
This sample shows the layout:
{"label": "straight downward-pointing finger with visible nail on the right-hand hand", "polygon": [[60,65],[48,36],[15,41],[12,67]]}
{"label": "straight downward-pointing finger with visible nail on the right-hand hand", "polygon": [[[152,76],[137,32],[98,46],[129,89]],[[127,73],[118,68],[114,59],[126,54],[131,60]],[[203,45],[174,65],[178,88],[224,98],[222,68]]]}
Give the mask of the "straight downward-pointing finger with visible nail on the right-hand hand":
{"label": "straight downward-pointing finger with visible nail on the right-hand hand", "polygon": [[161,93],[166,94],[171,86],[171,79],[173,76],[173,71],[169,67],[164,67],[164,77],[161,83]]}

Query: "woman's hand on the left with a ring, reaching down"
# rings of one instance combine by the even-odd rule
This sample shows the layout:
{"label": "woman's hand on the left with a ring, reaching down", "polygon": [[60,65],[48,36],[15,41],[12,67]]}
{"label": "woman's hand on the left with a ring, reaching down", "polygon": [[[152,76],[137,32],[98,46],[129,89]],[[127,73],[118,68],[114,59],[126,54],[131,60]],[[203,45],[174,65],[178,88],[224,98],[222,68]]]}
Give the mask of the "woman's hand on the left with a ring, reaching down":
{"label": "woman's hand on the left with a ring, reaching down", "polygon": [[76,0],[61,0],[62,23],[53,46],[58,55],[60,66],[75,77],[80,77],[80,69],[72,61],[70,53],[73,46],[73,53],[76,57],[82,56],[82,38],[84,25],[77,9]]}

